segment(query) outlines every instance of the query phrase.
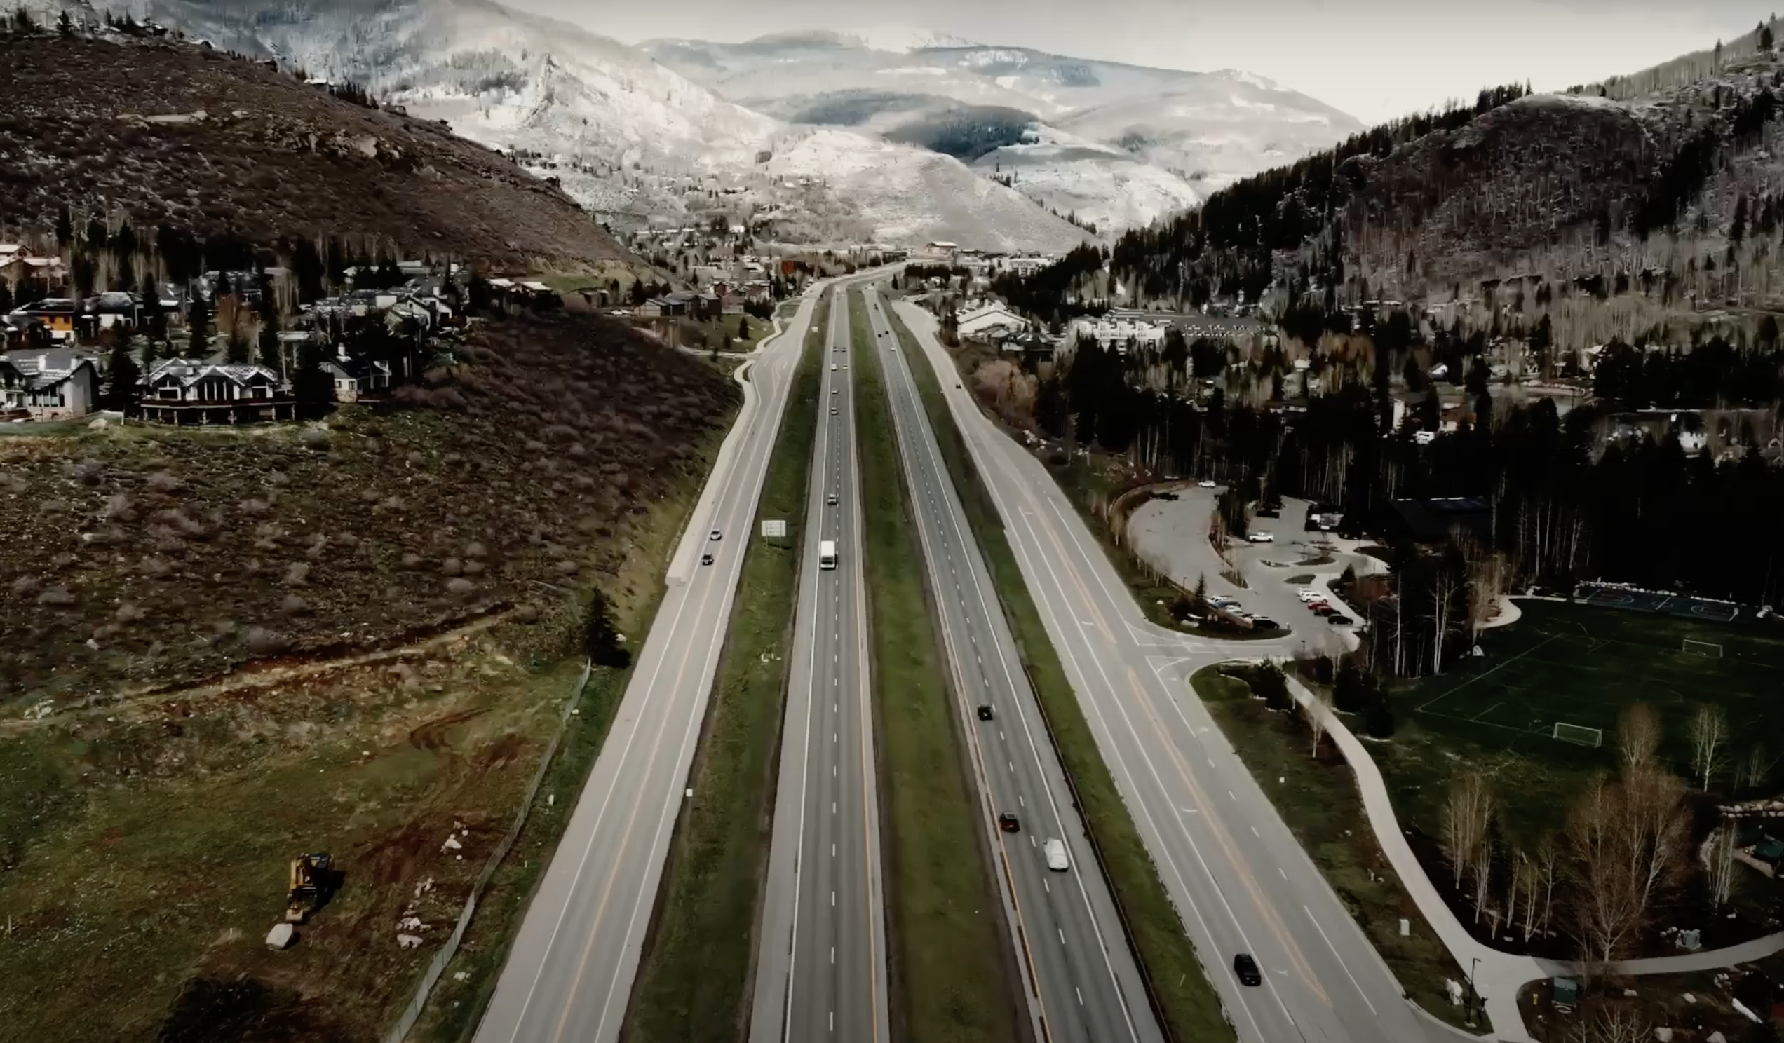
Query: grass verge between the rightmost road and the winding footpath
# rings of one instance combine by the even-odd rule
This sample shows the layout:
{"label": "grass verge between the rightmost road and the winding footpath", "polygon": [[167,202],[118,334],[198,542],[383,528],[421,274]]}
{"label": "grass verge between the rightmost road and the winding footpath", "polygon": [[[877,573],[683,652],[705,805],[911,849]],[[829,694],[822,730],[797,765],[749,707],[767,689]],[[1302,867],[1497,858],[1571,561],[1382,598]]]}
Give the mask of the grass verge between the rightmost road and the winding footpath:
{"label": "grass verge between the rightmost road and the winding footpath", "polygon": [[[1190,685],[1408,997],[1449,1025],[1488,1032],[1484,1023],[1466,1029],[1461,1007],[1449,1002],[1443,981],[1463,981],[1463,968],[1381,852],[1350,765],[1329,745],[1313,758],[1301,715],[1270,711],[1243,679],[1220,667],[1197,670]],[[1402,918],[1409,922],[1406,936]]]}

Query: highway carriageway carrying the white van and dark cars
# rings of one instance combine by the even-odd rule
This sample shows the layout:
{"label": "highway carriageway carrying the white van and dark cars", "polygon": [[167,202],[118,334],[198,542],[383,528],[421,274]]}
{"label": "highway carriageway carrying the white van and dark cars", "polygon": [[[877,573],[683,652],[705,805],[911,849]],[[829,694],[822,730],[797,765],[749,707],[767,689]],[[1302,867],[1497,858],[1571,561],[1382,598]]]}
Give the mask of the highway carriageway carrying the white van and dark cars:
{"label": "highway carriageway carrying the white van and dark cars", "polygon": [[[880,294],[869,289],[865,301],[1037,1038],[1161,1041],[904,353],[894,349]],[[979,706],[992,710],[992,720],[978,717]],[[1001,813],[1015,815],[1020,831],[1001,831]],[[1065,842],[1069,870],[1049,870],[1049,838]]]}

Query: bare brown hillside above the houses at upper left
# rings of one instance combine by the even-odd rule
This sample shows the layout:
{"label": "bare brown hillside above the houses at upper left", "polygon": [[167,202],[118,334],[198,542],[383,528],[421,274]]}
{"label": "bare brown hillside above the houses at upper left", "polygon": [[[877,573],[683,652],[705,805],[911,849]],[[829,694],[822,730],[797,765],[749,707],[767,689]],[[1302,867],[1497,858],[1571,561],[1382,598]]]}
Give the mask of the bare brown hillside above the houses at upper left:
{"label": "bare brown hillside above the houses at upper left", "polygon": [[569,196],[494,152],[246,59],[39,34],[0,43],[0,66],[7,223],[46,230],[61,207],[111,209],[257,242],[351,232],[496,264],[624,257]]}

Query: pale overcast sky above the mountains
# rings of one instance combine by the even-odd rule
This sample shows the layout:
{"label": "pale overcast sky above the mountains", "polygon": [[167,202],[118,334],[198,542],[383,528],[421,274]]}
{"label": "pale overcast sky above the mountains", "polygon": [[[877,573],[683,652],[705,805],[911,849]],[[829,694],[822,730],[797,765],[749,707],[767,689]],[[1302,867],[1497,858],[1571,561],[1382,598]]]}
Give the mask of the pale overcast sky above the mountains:
{"label": "pale overcast sky above the mountains", "polygon": [[[1529,80],[1632,73],[1747,32],[1732,0],[505,0],[624,43],[740,41],[888,21],[974,43],[1211,71],[1240,68],[1375,123]],[[1775,0],[1764,0],[1775,2]]]}

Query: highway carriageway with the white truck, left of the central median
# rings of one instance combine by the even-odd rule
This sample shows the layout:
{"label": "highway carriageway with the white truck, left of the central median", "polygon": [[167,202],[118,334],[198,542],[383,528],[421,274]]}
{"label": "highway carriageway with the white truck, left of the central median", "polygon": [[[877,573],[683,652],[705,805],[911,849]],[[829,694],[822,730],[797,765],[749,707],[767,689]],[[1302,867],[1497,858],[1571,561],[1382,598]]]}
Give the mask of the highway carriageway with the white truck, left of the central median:
{"label": "highway carriageway with the white truck, left of the central median", "polygon": [[[824,341],[751,1043],[890,1039],[847,294]],[[835,497],[835,503],[831,503]],[[819,567],[819,544],[838,546]]]}

